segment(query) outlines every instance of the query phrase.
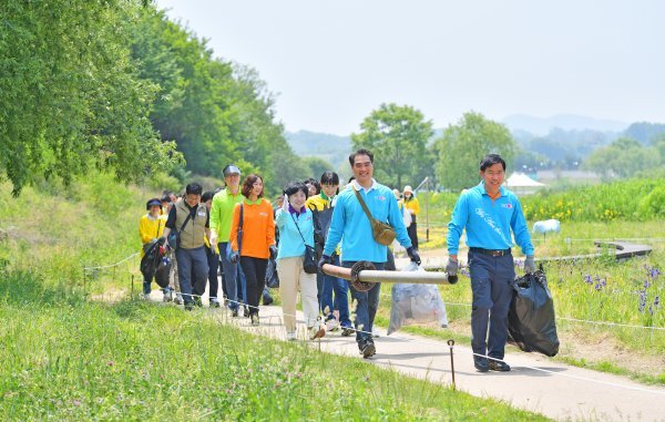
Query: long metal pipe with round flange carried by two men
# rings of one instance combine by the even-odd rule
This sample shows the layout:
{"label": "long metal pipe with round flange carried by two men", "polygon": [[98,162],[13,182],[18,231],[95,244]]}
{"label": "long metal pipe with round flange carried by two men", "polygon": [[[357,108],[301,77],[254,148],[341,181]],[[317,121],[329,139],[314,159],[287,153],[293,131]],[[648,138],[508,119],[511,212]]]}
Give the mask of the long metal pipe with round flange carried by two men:
{"label": "long metal pipe with round flange carried by two men", "polygon": [[449,277],[446,272],[424,271],[379,271],[367,261],[358,261],[352,268],[325,264],[323,270],[328,276],[344,278],[359,291],[369,290],[376,282],[405,282],[416,285],[454,285],[457,276]]}

